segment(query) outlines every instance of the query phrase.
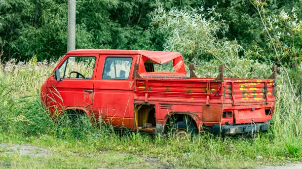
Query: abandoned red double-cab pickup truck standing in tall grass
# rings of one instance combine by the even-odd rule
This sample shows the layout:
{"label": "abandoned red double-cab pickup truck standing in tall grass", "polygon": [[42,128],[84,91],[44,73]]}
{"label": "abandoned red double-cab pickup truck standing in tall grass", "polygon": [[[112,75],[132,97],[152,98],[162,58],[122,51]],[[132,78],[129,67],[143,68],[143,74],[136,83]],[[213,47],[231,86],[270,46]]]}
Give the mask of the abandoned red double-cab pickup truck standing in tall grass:
{"label": "abandoned red double-cab pickup truck standing in tall grass", "polygon": [[[274,112],[276,67],[268,79],[187,75],[178,52],[70,51],[41,87],[51,113],[87,114],[129,128],[174,136],[266,131]],[[72,114],[72,113],[71,113]]]}

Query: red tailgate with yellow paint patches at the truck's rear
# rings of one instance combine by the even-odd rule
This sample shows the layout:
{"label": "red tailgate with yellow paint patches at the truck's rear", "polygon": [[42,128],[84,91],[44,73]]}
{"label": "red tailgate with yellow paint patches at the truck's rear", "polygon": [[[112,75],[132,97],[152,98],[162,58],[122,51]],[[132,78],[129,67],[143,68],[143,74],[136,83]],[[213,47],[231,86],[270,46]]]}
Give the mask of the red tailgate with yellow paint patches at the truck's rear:
{"label": "red tailgate with yellow paint patches at the truck's rear", "polygon": [[275,101],[271,79],[227,79],[224,85],[225,103],[243,105]]}

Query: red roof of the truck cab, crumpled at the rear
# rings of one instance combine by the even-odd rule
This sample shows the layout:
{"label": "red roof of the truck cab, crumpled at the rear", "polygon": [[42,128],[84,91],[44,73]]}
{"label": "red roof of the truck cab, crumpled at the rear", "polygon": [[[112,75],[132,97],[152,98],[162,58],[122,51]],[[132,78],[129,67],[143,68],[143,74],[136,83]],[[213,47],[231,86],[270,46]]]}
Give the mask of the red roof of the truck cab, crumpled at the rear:
{"label": "red roof of the truck cab, crumpled at the rear", "polygon": [[139,54],[160,65],[168,63],[175,58],[182,57],[178,52],[119,49],[76,49],[68,52],[67,54]]}

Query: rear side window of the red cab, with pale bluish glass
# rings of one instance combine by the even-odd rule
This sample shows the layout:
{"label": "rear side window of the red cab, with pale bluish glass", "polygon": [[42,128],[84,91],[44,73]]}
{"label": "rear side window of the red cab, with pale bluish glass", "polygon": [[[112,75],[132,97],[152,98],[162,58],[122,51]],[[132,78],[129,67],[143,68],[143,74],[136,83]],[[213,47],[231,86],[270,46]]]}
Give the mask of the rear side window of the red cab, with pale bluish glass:
{"label": "rear side window of the red cab, with pale bluish glass", "polygon": [[103,69],[103,79],[126,80],[129,78],[132,57],[107,57]]}

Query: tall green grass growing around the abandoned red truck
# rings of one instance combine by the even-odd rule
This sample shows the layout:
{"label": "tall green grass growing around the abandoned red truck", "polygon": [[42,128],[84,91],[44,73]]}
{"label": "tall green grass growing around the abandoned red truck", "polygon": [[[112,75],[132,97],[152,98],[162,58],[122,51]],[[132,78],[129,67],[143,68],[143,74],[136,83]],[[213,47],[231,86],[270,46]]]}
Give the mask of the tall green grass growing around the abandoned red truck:
{"label": "tall green grass growing around the abandoned red truck", "polygon": [[[116,133],[111,126],[90,123],[86,116],[76,123],[67,115],[51,118],[39,100],[39,88],[55,65],[15,61],[0,64],[0,142],[56,146],[58,151],[140,153],[181,168],[242,168],[302,161],[302,77],[296,75],[302,74],[299,68],[290,71],[296,75],[295,95],[282,72],[278,75],[274,123],[268,132],[254,139],[203,134],[180,142],[145,133]],[[189,156],[185,156],[187,152]]]}

